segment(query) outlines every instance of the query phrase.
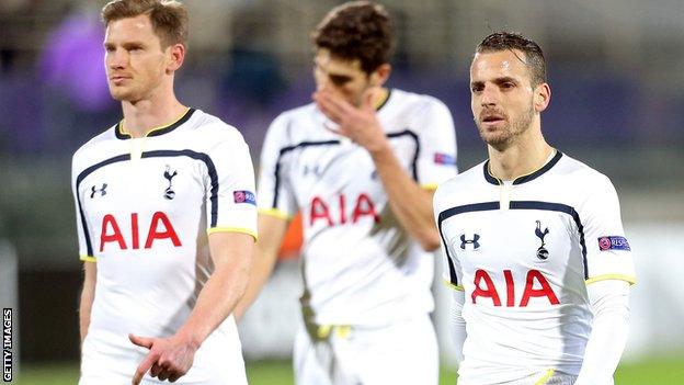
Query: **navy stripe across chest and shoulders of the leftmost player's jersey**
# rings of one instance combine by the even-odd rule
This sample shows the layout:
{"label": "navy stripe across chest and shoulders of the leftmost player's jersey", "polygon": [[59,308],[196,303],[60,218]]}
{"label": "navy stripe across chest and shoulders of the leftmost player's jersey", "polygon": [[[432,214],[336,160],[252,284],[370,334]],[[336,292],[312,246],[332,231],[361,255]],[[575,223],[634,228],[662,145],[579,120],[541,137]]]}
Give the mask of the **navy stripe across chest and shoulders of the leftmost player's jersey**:
{"label": "navy stripe across chest and shoulders of the leftmost player's jersey", "polygon": [[[212,203],[212,219],[210,227],[216,227],[218,222],[218,173],[216,172],[216,167],[212,161],[212,158],[204,152],[195,152],[193,150],[156,150],[156,151],[147,151],[142,152],[140,158],[159,158],[159,157],[189,157],[195,160],[201,160],[206,165],[207,173],[209,175],[209,180],[212,182],[210,197],[209,201]],[[90,240],[90,234],[88,231],[88,224],[86,222],[86,214],[83,213],[83,207],[81,204],[81,196],[79,193],[79,186],[83,179],[93,173],[95,170],[103,168],[105,166],[116,163],[119,161],[128,161],[130,160],[130,154],[119,155],[106,160],[103,160],[99,163],[95,163],[78,174],[76,178],[76,199],[78,203],[81,227],[83,228],[83,236],[86,238],[86,247],[88,249],[88,256],[94,257],[92,241]]]}

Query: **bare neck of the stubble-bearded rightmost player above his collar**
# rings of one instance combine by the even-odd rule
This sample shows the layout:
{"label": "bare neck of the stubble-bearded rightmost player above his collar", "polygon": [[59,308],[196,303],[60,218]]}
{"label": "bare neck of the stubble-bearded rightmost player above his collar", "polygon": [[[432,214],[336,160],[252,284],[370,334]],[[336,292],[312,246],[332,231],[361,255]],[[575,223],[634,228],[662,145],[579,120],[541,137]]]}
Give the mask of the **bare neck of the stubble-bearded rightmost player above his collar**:
{"label": "bare neck of the stubble-bearded rightmost player above his collar", "polygon": [[492,175],[511,181],[546,165],[554,148],[546,143],[540,129],[531,128],[526,134],[501,150],[488,146],[489,171]]}

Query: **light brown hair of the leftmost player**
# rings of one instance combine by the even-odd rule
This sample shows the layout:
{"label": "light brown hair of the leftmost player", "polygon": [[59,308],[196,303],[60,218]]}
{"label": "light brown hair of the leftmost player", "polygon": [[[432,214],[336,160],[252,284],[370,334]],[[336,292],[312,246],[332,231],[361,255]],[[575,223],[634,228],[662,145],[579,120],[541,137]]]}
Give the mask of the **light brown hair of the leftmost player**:
{"label": "light brown hair of the leftmost player", "polygon": [[148,14],[161,47],[187,41],[187,10],[175,0],[112,0],[102,8],[102,22]]}

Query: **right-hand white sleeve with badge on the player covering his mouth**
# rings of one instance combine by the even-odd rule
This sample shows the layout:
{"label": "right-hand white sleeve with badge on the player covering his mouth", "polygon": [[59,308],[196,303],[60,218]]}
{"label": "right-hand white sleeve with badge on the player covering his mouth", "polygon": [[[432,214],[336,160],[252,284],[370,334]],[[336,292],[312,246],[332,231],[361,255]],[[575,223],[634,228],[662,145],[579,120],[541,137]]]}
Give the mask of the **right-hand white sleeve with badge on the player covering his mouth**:
{"label": "right-hand white sleeve with badge on the player covering his mouth", "polygon": [[448,107],[434,98],[430,98],[415,118],[421,146],[418,158],[419,183],[434,190],[458,173],[454,121]]}

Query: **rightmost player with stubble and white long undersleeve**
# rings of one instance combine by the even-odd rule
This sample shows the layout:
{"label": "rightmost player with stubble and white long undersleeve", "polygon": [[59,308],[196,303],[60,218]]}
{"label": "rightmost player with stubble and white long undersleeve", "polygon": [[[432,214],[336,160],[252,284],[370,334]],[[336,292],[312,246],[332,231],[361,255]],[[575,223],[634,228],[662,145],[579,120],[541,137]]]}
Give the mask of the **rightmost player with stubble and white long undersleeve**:
{"label": "rightmost player with stubble and white long undersleeve", "polygon": [[470,89],[489,160],[434,197],[458,384],[612,384],[636,281],[615,189],[545,141],[550,90],[536,43],[486,37]]}

